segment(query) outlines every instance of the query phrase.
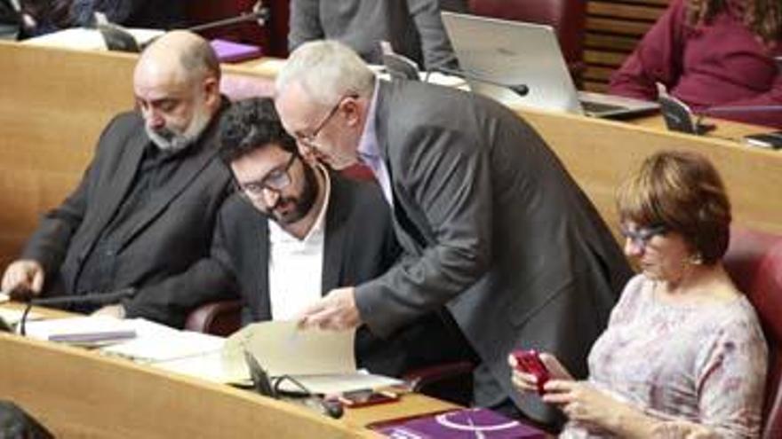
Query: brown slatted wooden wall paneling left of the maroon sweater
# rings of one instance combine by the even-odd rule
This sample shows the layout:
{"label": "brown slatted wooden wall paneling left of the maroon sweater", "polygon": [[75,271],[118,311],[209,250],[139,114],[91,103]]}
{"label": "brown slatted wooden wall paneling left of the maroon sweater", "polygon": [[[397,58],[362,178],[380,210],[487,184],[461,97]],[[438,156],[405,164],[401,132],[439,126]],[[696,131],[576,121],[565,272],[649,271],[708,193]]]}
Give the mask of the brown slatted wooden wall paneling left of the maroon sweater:
{"label": "brown slatted wooden wall paneling left of the maroon sweater", "polygon": [[586,0],[586,90],[605,90],[610,74],[665,11],[668,0]]}

